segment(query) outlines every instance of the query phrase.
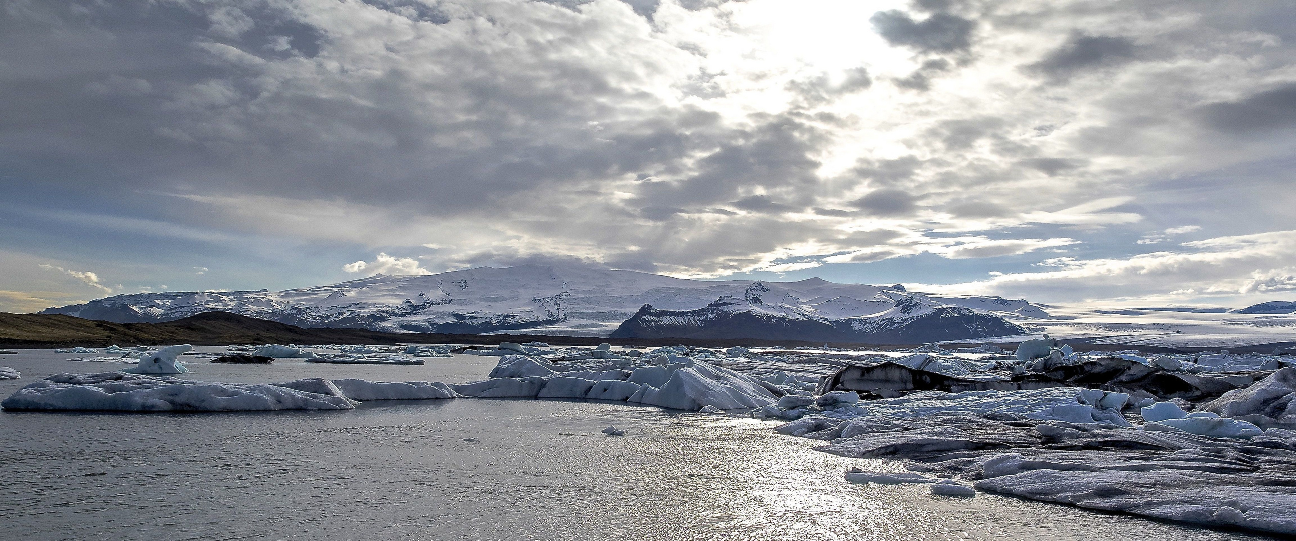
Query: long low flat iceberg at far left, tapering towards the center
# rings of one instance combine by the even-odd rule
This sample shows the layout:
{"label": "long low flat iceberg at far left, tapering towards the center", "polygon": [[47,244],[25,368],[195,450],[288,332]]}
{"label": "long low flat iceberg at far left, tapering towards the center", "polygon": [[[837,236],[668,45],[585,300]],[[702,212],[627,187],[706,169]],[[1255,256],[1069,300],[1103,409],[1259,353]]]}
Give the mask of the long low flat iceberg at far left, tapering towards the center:
{"label": "long low flat iceberg at far left, tapering towards the center", "polygon": [[353,409],[369,400],[461,397],[439,382],[307,378],[246,384],[108,371],[54,374],[0,401],[13,410],[263,412]]}

